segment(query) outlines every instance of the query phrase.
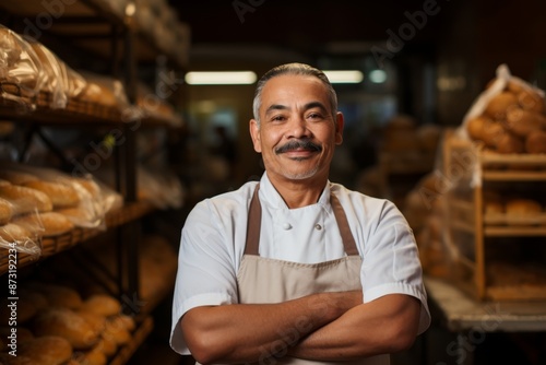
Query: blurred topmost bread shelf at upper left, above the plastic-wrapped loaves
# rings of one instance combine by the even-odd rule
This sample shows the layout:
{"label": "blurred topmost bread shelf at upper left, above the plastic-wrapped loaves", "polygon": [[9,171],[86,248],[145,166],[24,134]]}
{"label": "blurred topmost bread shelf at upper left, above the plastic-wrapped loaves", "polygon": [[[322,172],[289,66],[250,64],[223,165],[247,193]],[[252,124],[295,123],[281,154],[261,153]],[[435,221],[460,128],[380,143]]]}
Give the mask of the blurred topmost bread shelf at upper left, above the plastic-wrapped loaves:
{"label": "blurred topmost bread shelf at upper left, above the plastic-wrapped loaves", "polygon": [[[11,16],[25,19],[21,22],[24,32],[34,38],[44,33],[70,38],[73,45],[104,59],[111,60],[111,42],[121,38],[126,30],[135,35],[139,61],[154,62],[157,55],[165,55],[178,67],[188,63],[190,31],[167,1],[27,0],[4,1],[0,8]],[[117,34],[112,33],[114,27]]]}

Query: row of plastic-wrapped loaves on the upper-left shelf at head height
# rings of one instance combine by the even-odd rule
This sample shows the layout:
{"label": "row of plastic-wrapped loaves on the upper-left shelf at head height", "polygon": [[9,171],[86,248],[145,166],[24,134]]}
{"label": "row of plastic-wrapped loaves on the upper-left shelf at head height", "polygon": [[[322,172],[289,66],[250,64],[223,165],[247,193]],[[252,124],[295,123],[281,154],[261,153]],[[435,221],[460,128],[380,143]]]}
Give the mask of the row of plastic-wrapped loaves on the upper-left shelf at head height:
{"label": "row of plastic-wrapped loaves on the upper-left shelf at head height", "polygon": [[[0,75],[2,119],[74,126],[181,126],[174,107],[152,91],[141,91],[139,85],[133,105],[120,80],[75,71],[44,44],[1,25],[0,46],[5,50],[0,56],[5,68]],[[173,93],[179,84],[165,87]]]}

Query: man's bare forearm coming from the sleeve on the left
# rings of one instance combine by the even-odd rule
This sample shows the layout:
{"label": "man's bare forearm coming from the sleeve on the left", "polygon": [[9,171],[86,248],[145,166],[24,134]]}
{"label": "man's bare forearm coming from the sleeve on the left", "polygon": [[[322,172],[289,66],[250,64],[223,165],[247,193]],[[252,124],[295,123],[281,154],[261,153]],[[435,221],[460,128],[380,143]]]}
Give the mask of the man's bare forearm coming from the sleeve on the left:
{"label": "man's bare forearm coming from the sleeve on the left", "polygon": [[360,292],[347,292],[278,304],[197,307],[182,317],[182,333],[200,363],[258,362],[286,355],[289,346],[360,303]]}

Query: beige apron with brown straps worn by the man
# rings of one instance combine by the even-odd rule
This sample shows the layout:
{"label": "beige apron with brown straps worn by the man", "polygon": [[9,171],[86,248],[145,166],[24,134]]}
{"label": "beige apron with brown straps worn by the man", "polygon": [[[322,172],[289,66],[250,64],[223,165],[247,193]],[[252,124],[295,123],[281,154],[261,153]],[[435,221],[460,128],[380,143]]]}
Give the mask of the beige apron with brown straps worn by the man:
{"label": "beige apron with brown straps worn by the man", "polygon": [[[245,255],[237,273],[239,303],[280,303],[313,293],[361,290],[361,258],[358,255],[345,212],[333,193],[330,196],[330,203],[347,256],[321,263],[298,263],[259,256],[261,204],[258,189],[257,186],[250,203]],[[363,329],[363,332],[369,330]],[[379,355],[358,361],[314,362],[288,356],[265,358],[265,355],[266,353],[261,362],[263,365],[387,365],[390,358],[389,355]]]}

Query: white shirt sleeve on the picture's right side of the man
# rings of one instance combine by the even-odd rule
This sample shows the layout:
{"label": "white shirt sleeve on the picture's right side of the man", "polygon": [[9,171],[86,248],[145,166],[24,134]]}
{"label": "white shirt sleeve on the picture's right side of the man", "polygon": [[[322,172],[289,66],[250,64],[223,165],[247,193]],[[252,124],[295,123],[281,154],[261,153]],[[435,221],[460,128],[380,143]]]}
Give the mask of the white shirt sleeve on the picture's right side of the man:
{"label": "white shirt sleeve on the picture's right side of the man", "polygon": [[364,301],[387,294],[407,294],[422,303],[418,333],[430,326],[427,294],[417,244],[412,228],[396,207],[383,201],[364,243],[361,282]]}

